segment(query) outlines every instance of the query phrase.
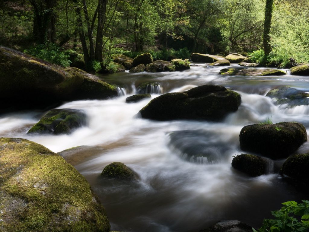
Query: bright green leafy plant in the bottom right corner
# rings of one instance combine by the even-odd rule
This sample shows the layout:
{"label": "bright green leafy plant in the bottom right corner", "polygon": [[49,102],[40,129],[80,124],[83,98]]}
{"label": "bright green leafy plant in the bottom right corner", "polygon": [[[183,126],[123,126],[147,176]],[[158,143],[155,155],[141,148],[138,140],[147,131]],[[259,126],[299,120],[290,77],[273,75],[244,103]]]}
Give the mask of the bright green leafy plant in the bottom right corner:
{"label": "bright green leafy plant in the bottom right corner", "polygon": [[[264,219],[260,229],[254,232],[307,232],[309,230],[309,200],[282,203],[280,210],[272,211],[275,219]],[[296,217],[294,217],[296,216]],[[298,218],[301,218],[299,221]]]}

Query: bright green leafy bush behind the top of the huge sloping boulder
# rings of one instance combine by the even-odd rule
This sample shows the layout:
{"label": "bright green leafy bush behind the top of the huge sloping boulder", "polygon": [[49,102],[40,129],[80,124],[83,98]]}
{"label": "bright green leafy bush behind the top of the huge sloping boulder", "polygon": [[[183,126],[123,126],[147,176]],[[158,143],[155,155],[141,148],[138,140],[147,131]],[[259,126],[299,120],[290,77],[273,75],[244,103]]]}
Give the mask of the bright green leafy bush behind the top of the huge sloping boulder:
{"label": "bright green leafy bush behind the top of the huge sloping boulder", "polygon": [[69,60],[70,55],[53,43],[39,44],[36,47],[24,50],[24,52],[62,67],[67,67],[71,63]]}

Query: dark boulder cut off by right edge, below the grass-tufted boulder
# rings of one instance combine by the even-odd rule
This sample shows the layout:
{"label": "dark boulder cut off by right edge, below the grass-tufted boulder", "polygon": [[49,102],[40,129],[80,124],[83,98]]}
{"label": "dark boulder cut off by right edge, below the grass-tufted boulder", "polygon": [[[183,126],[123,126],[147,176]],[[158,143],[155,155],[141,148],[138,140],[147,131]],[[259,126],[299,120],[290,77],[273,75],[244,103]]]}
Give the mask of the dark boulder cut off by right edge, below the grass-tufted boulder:
{"label": "dark boulder cut off by right edge, below the grass-tufted boulder", "polygon": [[291,179],[291,183],[309,190],[309,153],[297,154],[287,158],[281,173]]}

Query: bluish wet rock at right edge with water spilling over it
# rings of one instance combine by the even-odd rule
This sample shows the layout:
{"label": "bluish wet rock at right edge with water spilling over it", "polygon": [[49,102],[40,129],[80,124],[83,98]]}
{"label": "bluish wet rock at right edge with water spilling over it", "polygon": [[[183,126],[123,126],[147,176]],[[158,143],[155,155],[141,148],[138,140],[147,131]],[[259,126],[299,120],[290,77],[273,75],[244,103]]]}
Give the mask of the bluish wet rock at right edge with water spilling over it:
{"label": "bluish wet rock at right edge with water spilling over it", "polygon": [[289,86],[272,89],[266,96],[272,98],[277,105],[289,104],[289,107],[309,105],[309,94],[306,91]]}

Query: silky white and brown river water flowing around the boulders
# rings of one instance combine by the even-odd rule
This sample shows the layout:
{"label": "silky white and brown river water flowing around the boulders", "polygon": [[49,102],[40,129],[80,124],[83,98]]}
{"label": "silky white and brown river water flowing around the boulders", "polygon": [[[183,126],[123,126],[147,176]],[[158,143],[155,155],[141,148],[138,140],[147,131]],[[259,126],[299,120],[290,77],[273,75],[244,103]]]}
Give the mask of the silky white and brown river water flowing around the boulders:
{"label": "silky white and brown river water flowing around the boulders", "polygon": [[[251,178],[231,167],[239,148],[243,126],[266,118],[273,122],[300,122],[309,128],[309,107],[274,105],[265,97],[273,87],[288,85],[309,91],[309,77],[221,76],[205,64],[173,73],[128,72],[103,75],[120,86],[121,96],[108,100],[82,100],[58,108],[81,109],[88,125],[70,135],[27,135],[45,112],[23,111],[0,116],[0,136],[22,137],[54,152],[82,146],[71,163],[89,181],[104,205],[112,230],[127,232],[199,231],[219,221],[237,219],[259,227],[281,202],[299,201],[297,192],[276,174],[284,160],[269,161],[268,174]],[[237,112],[222,122],[173,120],[151,121],[138,117],[150,99],[125,103],[145,82],[152,85],[152,99],[167,92],[185,91],[204,84],[220,84],[241,95]],[[88,147],[89,146],[89,147]],[[95,149],[94,149],[95,148]],[[297,153],[309,152],[303,144]],[[123,162],[139,176],[137,183],[100,178],[111,162]],[[277,168],[278,169],[278,168]],[[275,171],[274,171],[275,170]]]}

